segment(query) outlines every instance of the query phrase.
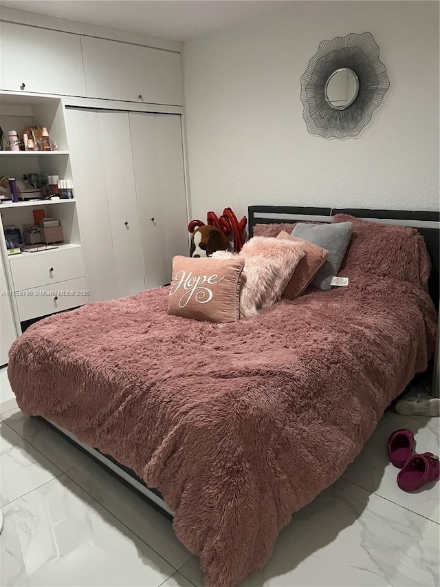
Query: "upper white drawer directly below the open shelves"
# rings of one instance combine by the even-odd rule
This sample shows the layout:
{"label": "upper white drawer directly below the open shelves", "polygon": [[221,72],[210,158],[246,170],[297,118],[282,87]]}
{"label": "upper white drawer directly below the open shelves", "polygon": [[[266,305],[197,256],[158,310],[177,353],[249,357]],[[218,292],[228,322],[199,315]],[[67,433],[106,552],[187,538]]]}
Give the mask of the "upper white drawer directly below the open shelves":
{"label": "upper white drawer directly below the open shelves", "polygon": [[22,253],[10,258],[10,268],[14,290],[28,290],[85,276],[80,247],[47,253]]}

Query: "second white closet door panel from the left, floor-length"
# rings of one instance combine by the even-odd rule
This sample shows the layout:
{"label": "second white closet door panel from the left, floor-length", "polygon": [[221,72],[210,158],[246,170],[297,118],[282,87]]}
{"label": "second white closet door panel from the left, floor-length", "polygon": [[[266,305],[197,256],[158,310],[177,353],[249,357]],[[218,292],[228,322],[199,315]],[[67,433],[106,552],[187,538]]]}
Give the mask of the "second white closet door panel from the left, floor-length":
{"label": "second white closet door panel from the left, floor-length", "polygon": [[118,295],[144,290],[128,112],[98,114]]}

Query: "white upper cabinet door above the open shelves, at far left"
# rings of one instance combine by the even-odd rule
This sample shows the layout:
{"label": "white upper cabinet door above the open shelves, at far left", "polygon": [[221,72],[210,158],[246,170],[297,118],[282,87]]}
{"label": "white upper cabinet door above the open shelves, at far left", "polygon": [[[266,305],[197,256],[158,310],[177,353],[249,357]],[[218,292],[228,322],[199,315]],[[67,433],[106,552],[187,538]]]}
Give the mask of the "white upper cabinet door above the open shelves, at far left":
{"label": "white upper cabinet door above the open shelves, at far left", "polygon": [[0,89],[86,95],[77,34],[2,22],[0,72]]}

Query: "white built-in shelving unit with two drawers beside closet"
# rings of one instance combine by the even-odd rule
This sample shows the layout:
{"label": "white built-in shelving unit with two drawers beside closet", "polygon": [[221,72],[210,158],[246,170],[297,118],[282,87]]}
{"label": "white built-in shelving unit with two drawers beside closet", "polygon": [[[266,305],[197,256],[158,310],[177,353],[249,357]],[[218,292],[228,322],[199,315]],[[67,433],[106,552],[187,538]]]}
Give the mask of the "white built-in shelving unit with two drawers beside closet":
{"label": "white built-in shelving unit with two drawers beside closet", "polygon": [[[30,125],[47,127],[58,149],[0,151],[0,176],[21,180],[23,175],[36,173],[58,175],[60,178],[72,180],[65,111],[61,98],[0,92],[0,127],[3,129],[3,142],[7,140],[8,130],[17,130],[21,136],[23,129]],[[42,210],[46,217],[60,221],[64,242],[54,244],[56,248],[8,255],[3,236],[5,227],[15,226],[23,235],[23,225],[34,224],[34,210]],[[0,203],[0,229],[0,254],[6,286],[10,291],[18,292],[18,295],[9,298],[18,334],[22,332],[26,321],[74,308],[89,301],[86,295],[87,281],[75,199],[3,201]],[[85,293],[58,297],[56,292],[61,290]],[[47,295],[47,292],[50,295]],[[54,295],[52,292],[55,292]]]}

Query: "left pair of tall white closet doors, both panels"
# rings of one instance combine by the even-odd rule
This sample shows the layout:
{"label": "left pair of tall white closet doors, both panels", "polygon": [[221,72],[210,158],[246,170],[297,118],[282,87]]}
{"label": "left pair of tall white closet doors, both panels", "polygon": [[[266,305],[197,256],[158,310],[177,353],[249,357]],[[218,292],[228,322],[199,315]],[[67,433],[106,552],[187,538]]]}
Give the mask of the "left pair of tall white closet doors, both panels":
{"label": "left pair of tall white closet doors, both panels", "polygon": [[91,301],[145,288],[129,114],[67,109],[81,244]]}

